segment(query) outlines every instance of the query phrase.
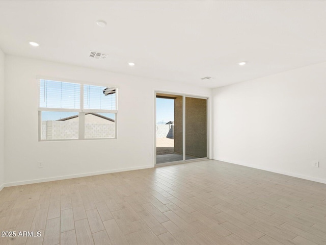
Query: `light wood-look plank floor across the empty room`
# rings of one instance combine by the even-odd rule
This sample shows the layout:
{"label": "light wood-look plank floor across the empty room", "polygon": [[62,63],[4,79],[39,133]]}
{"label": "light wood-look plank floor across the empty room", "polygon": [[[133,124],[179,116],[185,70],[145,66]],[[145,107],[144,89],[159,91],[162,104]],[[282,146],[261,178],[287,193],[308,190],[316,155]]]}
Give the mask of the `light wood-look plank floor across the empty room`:
{"label": "light wood-look plank floor across the empty room", "polygon": [[326,185],[208,160],[0,192],[0,244],[326,244]]}

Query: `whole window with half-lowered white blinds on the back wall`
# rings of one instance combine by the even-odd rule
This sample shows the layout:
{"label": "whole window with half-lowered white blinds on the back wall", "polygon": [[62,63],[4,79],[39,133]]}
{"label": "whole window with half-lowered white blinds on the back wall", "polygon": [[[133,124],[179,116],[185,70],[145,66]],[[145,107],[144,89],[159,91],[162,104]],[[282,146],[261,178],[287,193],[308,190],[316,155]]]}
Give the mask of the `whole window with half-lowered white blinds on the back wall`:
{"label": "whole window with half-lowered white blinds on the back wall", "polygon": [[39,140],[117,136],[114,87],[39,80]]}

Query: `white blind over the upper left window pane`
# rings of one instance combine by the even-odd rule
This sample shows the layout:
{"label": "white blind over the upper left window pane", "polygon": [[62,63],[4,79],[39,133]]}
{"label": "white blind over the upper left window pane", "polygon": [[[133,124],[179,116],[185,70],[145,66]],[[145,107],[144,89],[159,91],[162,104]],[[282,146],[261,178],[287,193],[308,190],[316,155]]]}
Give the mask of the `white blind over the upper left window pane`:
{"label": "white blind over the upper left window pane", "polygon": [[40,79],[39,107],[80,108],[80,84]]}

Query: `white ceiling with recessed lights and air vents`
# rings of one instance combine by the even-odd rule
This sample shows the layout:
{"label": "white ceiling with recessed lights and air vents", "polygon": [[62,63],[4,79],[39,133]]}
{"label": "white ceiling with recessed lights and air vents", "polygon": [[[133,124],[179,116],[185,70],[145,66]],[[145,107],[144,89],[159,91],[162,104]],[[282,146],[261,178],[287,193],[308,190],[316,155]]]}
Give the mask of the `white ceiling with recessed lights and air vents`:
{"label": "white ceiling with recessed lights and air vents", "polygon": [[0,1],[0,48],[219,87],[325,62],[326,1]]}

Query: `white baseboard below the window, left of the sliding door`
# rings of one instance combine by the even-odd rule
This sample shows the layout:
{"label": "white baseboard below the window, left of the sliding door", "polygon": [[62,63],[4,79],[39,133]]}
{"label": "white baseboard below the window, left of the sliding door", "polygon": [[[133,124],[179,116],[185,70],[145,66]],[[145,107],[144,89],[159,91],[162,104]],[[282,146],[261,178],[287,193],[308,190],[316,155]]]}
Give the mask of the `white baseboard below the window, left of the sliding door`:
{"label": "white baseboard below the window, left of the sliding door", "polygon": [[[153,167],[153,166],[145,165],[145,166],[139,166],[139,167],[119,168],[119,169],[98,171],[98,172],[85,173],[85,174],[66,175],[66,176],[58,176],[58,177],[36,179],[36,180],[17,181],[17,182],[5,183],[5,184],[3,184],[3,187],[16,186],[16,185],[28,185],[28,184],[35,184],[35,183],[41,183],[41,182],[56,181],[56,180],[74,179],[74,178],[94,176],[94,175],[104,175],[104,174],[124,172],[124,171],[130,171],[130,170],[139,170],[139,169],[145,169],[145,168],[151,168],[151,167]],[[2,188],[0,187],[0,190]]]}

